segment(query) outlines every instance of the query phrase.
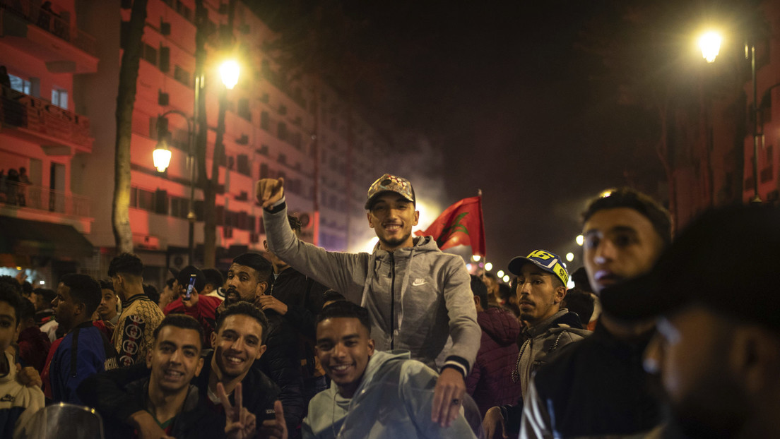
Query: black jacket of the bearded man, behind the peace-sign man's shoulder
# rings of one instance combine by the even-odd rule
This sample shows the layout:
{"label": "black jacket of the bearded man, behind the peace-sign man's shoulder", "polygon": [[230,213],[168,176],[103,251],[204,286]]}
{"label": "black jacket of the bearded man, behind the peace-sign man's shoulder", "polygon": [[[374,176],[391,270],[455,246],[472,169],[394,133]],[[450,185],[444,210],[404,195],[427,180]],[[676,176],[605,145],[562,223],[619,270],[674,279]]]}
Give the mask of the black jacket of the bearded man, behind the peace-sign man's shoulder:
{"label": "black jacket of the bearded man, behind the peace-sign man's shoulder", "polygon": [[298,332],[276,311],[264,310],[263,313],[268,317],[268,338],[265,341],[268,349],[252,367],[259,368],[282,389],[279,400],[285,411],[287,428],[292,430],[303,419],[306,406],[298,356]]}

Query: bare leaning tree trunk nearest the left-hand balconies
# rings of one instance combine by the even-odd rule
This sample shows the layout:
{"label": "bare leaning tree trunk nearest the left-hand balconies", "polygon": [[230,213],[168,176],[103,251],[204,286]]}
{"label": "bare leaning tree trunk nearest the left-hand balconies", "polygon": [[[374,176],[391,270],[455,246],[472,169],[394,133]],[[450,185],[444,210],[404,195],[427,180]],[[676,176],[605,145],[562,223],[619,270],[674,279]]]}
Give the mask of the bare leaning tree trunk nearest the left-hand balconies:
{"label": "bare leaning tree trunk nearest the left-hand balconies", "polygon": [[114,158],[114,199],[112,229],[118,252],[133,251],[130,228],[130,139],[133,128],[133,106],[140,64],[141,37],[147,16],[147,0],[135,0],[130,20],[122,29],[122,65],[119,69],[119,93],[116,96],[116,143]]}

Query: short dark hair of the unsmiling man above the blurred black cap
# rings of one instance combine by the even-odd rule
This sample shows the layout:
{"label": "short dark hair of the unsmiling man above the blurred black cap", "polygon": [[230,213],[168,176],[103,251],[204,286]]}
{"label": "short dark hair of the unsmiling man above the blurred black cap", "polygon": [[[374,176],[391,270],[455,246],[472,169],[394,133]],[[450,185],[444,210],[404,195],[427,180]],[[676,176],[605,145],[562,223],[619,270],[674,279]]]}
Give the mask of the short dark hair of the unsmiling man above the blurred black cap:
{"label": "short dark hair of the unsmiling man above the blurred black cap", "polygon": [[650,196],[627,187],[614,189],[607,196],[599,196],[590,200],[590,204],[582,214],[583,225],[597,211],[618,207],[628,207],[647,218],[653,225],[655,232],[661,237],[664,248],[672,243],[672,217],[669,212]]}

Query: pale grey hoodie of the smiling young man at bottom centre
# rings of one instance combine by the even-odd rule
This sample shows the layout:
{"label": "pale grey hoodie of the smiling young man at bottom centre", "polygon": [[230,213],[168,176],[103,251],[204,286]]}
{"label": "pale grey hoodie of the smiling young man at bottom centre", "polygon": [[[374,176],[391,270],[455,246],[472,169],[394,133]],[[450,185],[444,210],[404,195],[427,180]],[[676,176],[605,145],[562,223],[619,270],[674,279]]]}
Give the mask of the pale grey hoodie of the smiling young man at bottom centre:
{"label": "pale grey hoodie of the smiling young man at bottom centre", "polygon": [[409,352],[374,352],[353,398],[335,383],[314,395],[303,420],[304,439],[474,439],[463,412],[448,428],[431,422],[438,375]]}

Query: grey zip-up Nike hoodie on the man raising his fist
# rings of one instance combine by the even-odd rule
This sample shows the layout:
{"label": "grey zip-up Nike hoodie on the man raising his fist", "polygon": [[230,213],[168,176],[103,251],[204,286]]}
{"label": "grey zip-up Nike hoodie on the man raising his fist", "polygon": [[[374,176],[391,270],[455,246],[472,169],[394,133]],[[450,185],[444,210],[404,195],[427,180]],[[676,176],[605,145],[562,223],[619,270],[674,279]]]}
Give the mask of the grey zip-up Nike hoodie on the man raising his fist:
{"label": "grey zip-up Nike hoodie on the man raising his fist", "polygon": [[377,350],[406,349],[434,367],[452,336],[448,364],[469,374],[482,331],[469,272],[458,256],[442,253],[430,236],[393,253],[328,252],[296,238],[287,209],[264,211],[268,248],[291,267],[360,303],[371,315]]}

